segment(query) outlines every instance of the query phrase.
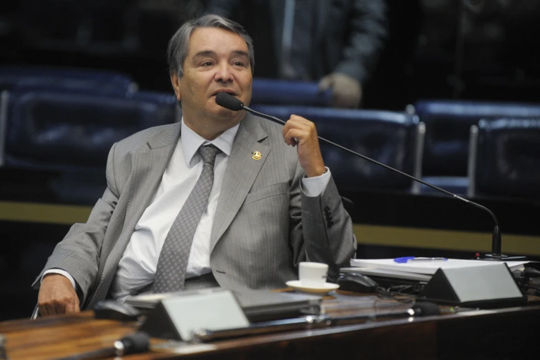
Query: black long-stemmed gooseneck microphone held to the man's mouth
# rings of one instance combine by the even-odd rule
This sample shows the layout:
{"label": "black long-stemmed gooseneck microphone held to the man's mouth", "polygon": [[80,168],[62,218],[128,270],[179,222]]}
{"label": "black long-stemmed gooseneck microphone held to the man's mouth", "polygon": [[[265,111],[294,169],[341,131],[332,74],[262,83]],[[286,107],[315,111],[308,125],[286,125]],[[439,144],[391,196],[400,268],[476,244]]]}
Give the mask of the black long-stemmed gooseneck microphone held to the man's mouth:
{"label": "black long-stemmed gooseneck microphone held to the man's mouth", "polygon": [[[272,117],[267,114],[262,114],[262,112],[258,112],[256,110],[250,109],[247,106],[242,103],[242,101],[236,99],[236,97],[233,97],[231,94],[227,94],[227,92],[219,92],[216,95],[216,103],[219,106],[222,106],[223,108],[227,108],[229,110],[233,111],[240,111],[240,110],[246,110],[248,112],[251,112],[251,114],[256,114],[259,117],[262,117],[264,119],[268,119],[270,121],[273,121],[275,123],[280,123],[282,125],[285,124],[285,121],[282,121],[281,119],[278,119],[277,117]],[[391,170],[393,172],[397,172],[398,174],[401,174],[404,177],[408,177],[409,179],[412,179],[413,181],[417,181],[419,183],[424,184],[425,186],[428,186],[432,189],[435,189],[439,192],[442,192],[443,194],[448,195],[449,197],[453,197],[454,199],[458,199],[461,201],[464,201],[472,206],[475,206],[476,208],[479,208],[481,210],[484,210],[488,214],[490,214],[490,217],[492,217],[493,221],[495,222],[495,228],[493,229],[493,235],[491,240],[491,254],[486,254],[486,257],[481,260],[497,260],[497,261],[508,261],[508,260],[522,260],[525,259],[525,257],[508,257],[507,255],[501,254],[501,231],[499,230],[499,221],[497,221],[497,217],[495,217],[495,214],[491,212],[488,208],[485,206],[481,206],[479,203],[475,203],[473,201],[464,199],[463,197],[459,197],[456,194],[453,194],[452,192],[446,191],[442,188],[439,188],[438,186],[435,186],[433,184],[427,183],[424,180],[417,179],[416,177],[413,177],[409,174],[406,174],[405,172],[399,171],[395,168],[392,168],[391,166],[384,165],[384,163],[380,163],[379,161],[373,160],[369,157],[366,157],[362,154],[359,154],[358,152],[355,152],[353,150],[350,150],[348,148],[345,148],[344,146],[341,146],[337,143],[334,143],[332,141],[326,140],[322,137],[318,137],[320,141],[324,143],[329,143],[332,146],[335,146],[336,148],[340,148],[341,150],[344,150],[346,152],[349,152],[350,154],[353,154],[357,157],[360,157],[366,161],[369,161],[371,163],[374,163],[377,166],[382,166],[383,168],[386,168],[388,170]]]}

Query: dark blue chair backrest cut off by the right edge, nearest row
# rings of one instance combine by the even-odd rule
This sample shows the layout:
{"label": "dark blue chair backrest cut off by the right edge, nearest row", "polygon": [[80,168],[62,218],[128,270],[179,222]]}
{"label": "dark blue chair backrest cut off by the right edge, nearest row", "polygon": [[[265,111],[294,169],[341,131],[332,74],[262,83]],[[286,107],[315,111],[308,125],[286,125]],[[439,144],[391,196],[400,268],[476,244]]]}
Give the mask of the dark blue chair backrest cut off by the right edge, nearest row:
{"label": "dark blue chair backrest cut off by the right edge, nearest row", "polygon": [[540,118],[478,123],[478,194],[540,197]]}

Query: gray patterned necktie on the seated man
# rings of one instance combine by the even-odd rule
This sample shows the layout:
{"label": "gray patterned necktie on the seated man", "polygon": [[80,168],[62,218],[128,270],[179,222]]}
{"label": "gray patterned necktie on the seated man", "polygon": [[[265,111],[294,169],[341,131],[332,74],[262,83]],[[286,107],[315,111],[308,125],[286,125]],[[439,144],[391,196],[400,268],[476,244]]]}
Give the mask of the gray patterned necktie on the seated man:
{"label": "gray patterned necktie on the seated man", "polygon": [[153,292],[171,292],[184,288],[191,242],[214,184],[214,161],[220,150],[209,145],[201,146],[197,152],[204,161],[203,172],[165,238],[158,258]]}

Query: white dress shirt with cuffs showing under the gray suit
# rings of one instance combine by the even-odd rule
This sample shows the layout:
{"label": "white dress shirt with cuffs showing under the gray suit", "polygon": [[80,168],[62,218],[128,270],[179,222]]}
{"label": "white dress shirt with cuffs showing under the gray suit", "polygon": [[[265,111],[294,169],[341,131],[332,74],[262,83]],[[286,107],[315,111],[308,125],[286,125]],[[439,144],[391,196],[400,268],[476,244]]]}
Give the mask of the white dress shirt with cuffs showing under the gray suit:
{"label": "white dress shirt with cuffs showing under the gray suit", "polygon": [[[132,237],[125,248],[120,263],[118,263],[111,287],[112,297],[118,301],[124,301],[130,295],[138,293],[141,288],[154,282],[159,253],[167,233],[189,193],[195,187],[200,173],[203,172],[203,161],[197,150],[200,146],[210,143],[222,152],[218,154],[214,163],[214,185],[191,244],[186,278],[211,272],[211,228],[218,206],[223,177],[239,125],[223,132],[212,141],[200,137],[188,128],[184,121],[182,121],[181,126],[181,137],[178,139],[171,160],[163,173],[158,190],[136,224]],[[320,195],[326,188],[330,176],[330,172],[327,171],[320,177],[304,177],[302,179],[304,194],[309,197]],[[51,269],[45,274],[50,272],[63,274],[72,281],[74,288],[76,288],[74,279],[67,272],[61,269]]]}

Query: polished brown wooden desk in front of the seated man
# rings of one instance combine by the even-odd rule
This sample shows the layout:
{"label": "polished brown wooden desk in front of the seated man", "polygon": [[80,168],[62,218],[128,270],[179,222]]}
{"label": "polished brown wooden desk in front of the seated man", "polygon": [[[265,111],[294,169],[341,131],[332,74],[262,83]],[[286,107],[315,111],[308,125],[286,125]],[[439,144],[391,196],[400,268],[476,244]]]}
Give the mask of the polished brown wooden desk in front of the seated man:
{"label": "polished brown wooden desk in front of the seated man", "polygon": [[[340,306],[335,304],[340,302]],[[325,299],[329,314],[384,315],[408,304],[341,292]],[[12,360],[54,359],[112,346],[134,332],[133,323],[75,316],[0,323]],[[212,344],[183,345],[171,352],[147,352],[125,359],[535,359],[540,306],[479,310],[433,317],[399,318],[318,330],[283,332]],[[154,347],[164,341],[152,340]],[[177,344],[178,345],[178,344]],[[532,352],[530,354],[530,352]]]}

